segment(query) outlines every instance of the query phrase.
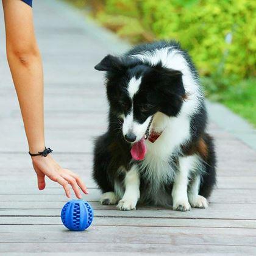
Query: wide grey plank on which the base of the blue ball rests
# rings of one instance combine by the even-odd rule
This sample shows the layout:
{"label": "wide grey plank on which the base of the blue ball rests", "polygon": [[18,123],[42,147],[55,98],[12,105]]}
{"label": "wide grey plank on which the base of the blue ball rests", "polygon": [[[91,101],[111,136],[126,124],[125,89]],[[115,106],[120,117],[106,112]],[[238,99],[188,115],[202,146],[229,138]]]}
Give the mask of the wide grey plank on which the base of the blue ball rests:
{"label": "wide grey plank on which the base of the blue ball rests", "polygon": [[[12,232],[12,236],[10,236]],[[66,232],[62,226],[1,226],[2,243],[137,243],[255,246],[255,229],[193,227],[92,226],[86,232]],[[119,234],[119,235],[118,235]],[[43,239],[42,239],[43,238]],[[186,239],[185,239],[186,238]]]}

